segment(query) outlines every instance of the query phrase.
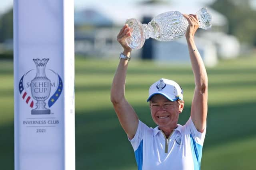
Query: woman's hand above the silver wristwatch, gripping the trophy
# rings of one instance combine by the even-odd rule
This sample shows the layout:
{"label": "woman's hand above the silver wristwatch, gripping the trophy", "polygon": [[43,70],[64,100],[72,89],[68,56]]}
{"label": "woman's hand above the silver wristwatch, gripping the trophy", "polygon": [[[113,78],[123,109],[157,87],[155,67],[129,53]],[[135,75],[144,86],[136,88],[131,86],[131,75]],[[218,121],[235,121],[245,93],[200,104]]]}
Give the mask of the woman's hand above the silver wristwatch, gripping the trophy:
{"label": "woman's hand above the silver wristwatch, gripping the trophy", "polygon": [[132,35],[130,27],[125,24],[117,35],[117,41],[122,45],[124,51],[131,52],[132,49],[127,45],[125,39]]}

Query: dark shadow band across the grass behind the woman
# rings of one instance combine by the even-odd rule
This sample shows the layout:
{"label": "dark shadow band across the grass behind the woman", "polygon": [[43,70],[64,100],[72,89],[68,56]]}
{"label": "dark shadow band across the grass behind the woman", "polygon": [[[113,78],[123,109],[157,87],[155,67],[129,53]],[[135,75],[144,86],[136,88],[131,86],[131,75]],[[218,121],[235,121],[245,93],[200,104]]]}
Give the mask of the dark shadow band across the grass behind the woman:
{"label": "dark shadow band across the grass behind the woman", "polygon": [[[156,125],[148,107],[135,106],[140,120]],[[242,140],[256,135],[255,102],[210,106],[204,149]],[[189,117],[190,106],[180,115],[179,123]],[[14,169],[13,123],[0,127],[3,169]],[[90,113],[76,112],[76,170],[114,170],[136,167],[132,146],[122,130],[114,109],[98,109]]]}

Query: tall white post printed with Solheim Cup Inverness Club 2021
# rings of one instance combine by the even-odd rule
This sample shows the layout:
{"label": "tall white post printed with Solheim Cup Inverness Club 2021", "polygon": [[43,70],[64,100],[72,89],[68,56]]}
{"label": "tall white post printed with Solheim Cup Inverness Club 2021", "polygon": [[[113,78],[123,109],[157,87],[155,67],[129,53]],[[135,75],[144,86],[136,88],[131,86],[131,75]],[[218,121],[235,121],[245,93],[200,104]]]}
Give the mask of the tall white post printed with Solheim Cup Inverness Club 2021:
{"label": "tall white post printed with Solheim Cup Inverness Club 2021", "polygon": [[75,170],[74,1],[14,0],[15,170]]}

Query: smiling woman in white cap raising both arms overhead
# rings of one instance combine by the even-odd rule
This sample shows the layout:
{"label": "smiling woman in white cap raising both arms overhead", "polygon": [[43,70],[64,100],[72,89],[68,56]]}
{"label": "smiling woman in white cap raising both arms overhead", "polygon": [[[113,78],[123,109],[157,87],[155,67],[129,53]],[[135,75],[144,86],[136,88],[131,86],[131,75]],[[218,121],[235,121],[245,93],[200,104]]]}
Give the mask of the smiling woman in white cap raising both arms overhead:
{"label": "smiling woman in white cap raising both arms overhead", "polygon": [[[148,102],[154,129],[138,119],[132,106],[124,98],[126,72],[132,49],[125,39],[131,36],[128,25],[120,30],[117,40],[124,48],[111,88],[111,102],[120,124],[134,149],[138,170],[199,170],[202,146],[206,134],[208,78],[202,58],[194,42],[199,26],[196,15],[186,15],[188,51],[195,77],[194,98],[190,118],[182,126],[178,124],[184,108],[183,90],[174,81],[161,78],[149,89]],[[159,133],[162,132],[162,133]]]}

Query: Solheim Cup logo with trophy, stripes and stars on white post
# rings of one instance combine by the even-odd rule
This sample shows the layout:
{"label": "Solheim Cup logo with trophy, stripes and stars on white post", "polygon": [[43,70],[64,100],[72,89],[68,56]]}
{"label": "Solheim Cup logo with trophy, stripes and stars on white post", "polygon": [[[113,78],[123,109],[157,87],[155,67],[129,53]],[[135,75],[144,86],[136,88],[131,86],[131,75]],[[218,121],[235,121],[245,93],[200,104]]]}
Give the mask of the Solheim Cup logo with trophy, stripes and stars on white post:
{"label": "Solheim Cup logo with trophy, stripes and stars on white post", "polygon": [[[31,80],[33,72],[35,73],[34,69],[29,70],[22,76],[19,82],[20,94],[26,104],[32,108],[32,115],[50,114],[51,111],[48,108],[58,100],[63,83],[60,76],[51,69],[48,69],[50,79],[46,76],[46,64],[49,59],[33,59],[33,61],[36,64],[36,76]],[[36,100],[36,106],[34,106],[34,101],[30,95]],[[45,100],[48,98],[48,108],[46,108]]]}

